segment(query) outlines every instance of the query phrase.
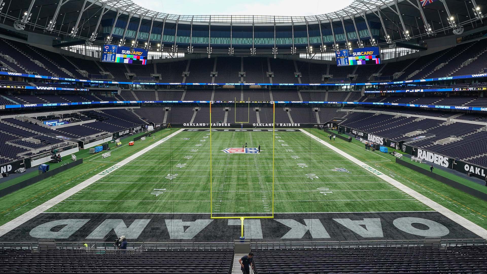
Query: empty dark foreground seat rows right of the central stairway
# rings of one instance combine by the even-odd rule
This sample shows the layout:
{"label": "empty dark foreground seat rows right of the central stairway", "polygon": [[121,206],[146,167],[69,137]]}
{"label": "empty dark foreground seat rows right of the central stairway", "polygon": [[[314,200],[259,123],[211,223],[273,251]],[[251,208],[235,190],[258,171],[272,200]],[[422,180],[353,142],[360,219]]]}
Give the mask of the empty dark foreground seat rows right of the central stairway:
{"label": "empty dark foreground seat rows right of the central stairway", "polygon": [[486,273],[487,245],[253,248],[259,274]]}

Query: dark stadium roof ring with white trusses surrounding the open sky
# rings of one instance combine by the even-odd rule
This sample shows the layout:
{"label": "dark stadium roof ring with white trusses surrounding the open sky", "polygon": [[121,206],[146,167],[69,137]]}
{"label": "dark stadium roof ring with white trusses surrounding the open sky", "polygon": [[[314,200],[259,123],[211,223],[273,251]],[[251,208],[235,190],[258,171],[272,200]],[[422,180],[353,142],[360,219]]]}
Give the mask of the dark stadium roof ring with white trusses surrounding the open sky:
{"label": "dark stadium roof ring with white trusses surrounding the open sky", "polygon": [[[12,24],[14,27],[17,24],[16,29],[24,29],[26,31],[56,36],[63,35],[61,40],[68,43],[80,43],[84,39],[89,39],[92,33],[104,34],[104,37],[98,35],[96,38],[96,41],[101,40],[103,42],[107,37],[106,35],[110,33],[110,27],[107,24],[117,24],[117,27],[122,28],[123,31],[127,21],[132,25],[132,30],[133,25],[135,24],[136,27],[138,24],[140,32],[149,32],[148,30],[151,26],[159,30],[175,28],[175,31],[171,30],[172,33],[170,35],[174,35],[174,33],[179,31],[177,29],[178,25],[180,25],[180,29],[192,30],[193,28],[199,28],[199,31],[205,25],[211,25],[211,31],[218,30],[218,27],[213,28],[213,26],[219,25],[250,26],[252,33],[254,31],[253,26],[260,27],[260,29],[255,28],[255,32],[258,33],[259,31],[272,31],[265,28],[276,30],[276,26],[283,26],[286,31],[291,31],[296,26],[301,25],[305,26],[304,31],[308,33],[308,36],[310,36],[310,31],[316,31],[318,26],[319,31],[322,31],[322,35],[325,35],[324,33],[327,31],[327,35],[330,37],[333,37],[330,33],[333,29],[338,29],[340,33],[344,33],[345,28],[347,28],[346,33],[356,33],[358,35],[360,28],[366,32],[367,36],[360,34],[360,37],[365,39],[368,39],[369,34],[372,32],[370,30],[367,31],[368,26],[364,29],[363,25],[369,23],[371,28],[374,28],[375,39],[380,39],[379,43],[385,43],[386,41],[383,38],[389,35],[392,41],[404,40],[407,30],[409,30],[413,39],[422,39],[424,36],[430,36],[433,33],[434,35],[450,35],[456,28],[456,25],[455,27],[449,25],[448,18],[450,16],[455,18],[455,24],[462,27],[462,31],[463,28],[469,30],[483,26],[483,21],[475,18],[472,9],[478,5],[481,11],[485,11],[487,9],[487,0],[426,1],[431,3],[421,7],[419,0],[353,0],[350,5],[343,9],[313,16],[178,15],[150,10],[134,3],[132,0],[10,0],[9,2],[0,0],[0,5],[1,2],[5,3],[1,11],[1,16],[4,18],[2,23]],[[22,25],[22,16],[26,11],[30,11],[32,18]],[[101,21],[101,19],[104,21]],[[50,21],[54,21],[53,25],[51,25]],[[330,24],[330,22],[332,23]],[[354,27],[355,24],[361,24],[361,26],[357,28],[356,26]],[[425,30],[425,25],[429,24],[431,24],[432,29],[430,33],[427,29]],[[310,26],[309,31],[308,25]],[[78,31],[70,38],[71,31],[75,26]],[[291,26],[294,27],[291,28]],[[208,29],[206,27],[206,32],[208,32]],[[222,29],[220,28],[220,30]],[[226,31],[229,31],[229,29]],[[113,34],[116,35],[115,33]],[[198,35],[201,36],[201,33]],[[189,35],[187,36],[189,37]],[[209,39],[208,34],[206,36]],[[355,35],[355,37],[357,36]],[[253,41],[253,35],[251,39]],[[307,39],[310,41],[309,37]],[[353,38],[350,39],[353,40]],[[174,40],[171,43],[176,45]],[[274,38],[274,40],[276,39]],[[156,39],[156,41],[159,41],[159,39]],[[392,41],[387,42],[391,44]],[[411,42],[418,43],[418,40]],[[308,42],[308,44],[310,43]],[[323,44],[323,41],[321,43]],[[330,43],[330,41],[326,41],[326,43]],[[331,43],[333,43],[333,40]]]}

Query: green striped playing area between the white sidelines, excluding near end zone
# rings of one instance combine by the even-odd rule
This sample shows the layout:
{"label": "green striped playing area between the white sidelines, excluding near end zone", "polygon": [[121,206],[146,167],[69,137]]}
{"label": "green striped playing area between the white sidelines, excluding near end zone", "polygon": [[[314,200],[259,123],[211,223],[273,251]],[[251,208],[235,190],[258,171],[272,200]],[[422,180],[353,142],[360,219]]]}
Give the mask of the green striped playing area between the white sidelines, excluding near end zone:
{"label": "green striped playing area between the white sidelines, excluding near end zone", "polygon": [[206,130],[182,131],[48,212],[270,216],[273,210],[432,211],[301,131],[281,129],[275,136],[272,130],[213,131],[211,144]]}

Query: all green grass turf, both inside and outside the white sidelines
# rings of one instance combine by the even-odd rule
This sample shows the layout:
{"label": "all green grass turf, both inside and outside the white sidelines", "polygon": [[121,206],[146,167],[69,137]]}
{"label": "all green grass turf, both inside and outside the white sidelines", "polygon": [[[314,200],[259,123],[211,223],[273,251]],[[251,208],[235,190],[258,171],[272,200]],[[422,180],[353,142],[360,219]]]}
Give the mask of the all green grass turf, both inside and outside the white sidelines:
{"label": "all green grass turf, both inside and outside the white sidelines", "polygon": [[[393,171],[394,179],[487,228],[485,201],[395,164],[395,158],[388,154],[366,151],[361,143],[348,143],[340,139],[329,141],[326,133],[317,129],[310,131],[386,175]],[[112,166],[160,139],[162,134],[167,135],[169,131],[161,131],[155,135],[155,139],[137,142],[134,147],[122,147],[110,158],[87,161],[81,166],[0,198],[0,224]],[[72,199],[59,203],[49,212],[207,213],[210,211],[210,193],[209,138],[204,138],[207,137],[206,134],[182,132],[120,170],[105,176],[85,191],[72,196]],[[371,173],[361,170],[354,163],[303,133],[277,134],[281,138],[275,140],[281,139],[284,142],[276,142],[275,212],[431,211],[420,202],[409,200],[410,197],[406,194]],[[206,141],[200,141],[203,139]],[[245,142],[249,147],[257,147],[260,144],[261,154],[228,155],[220,151],[229,147],[241,147]],[[282,143],[288,146],[281,146]],[[195,146],[196,144],[202,145]],[[192,149],[198,151],[192,152]],[[271,210],[272,200],[272,134],[213,132],[212,153],[212,209],[215,215],[270,214],[266,210]],[[188,159],[186,156],[192,157]],[[291,156],[300,158],[295,159]],[[298,163],[304,163],[306,167],[301,168]],[[179,165],[184,166],[180,168],[177,167],[178,164],[186,165]],[[257,167],[260,175],[257,173]],[[331,171],[336,167],[346,168],[352,173]],[[168,174],[177,176],[169,180],[166,178]],[[311,180],[306,174],[315,174],[318,178]],[[70,185],[67,185],[68,183]],[[321,194],[318,188],[322,187],[328,188],[327,191],[332,193],[327,193],[326,196]],[[155,192],[163,193],[157,196],[151,194]],[[219,200],[222,202],[217,204]]]}

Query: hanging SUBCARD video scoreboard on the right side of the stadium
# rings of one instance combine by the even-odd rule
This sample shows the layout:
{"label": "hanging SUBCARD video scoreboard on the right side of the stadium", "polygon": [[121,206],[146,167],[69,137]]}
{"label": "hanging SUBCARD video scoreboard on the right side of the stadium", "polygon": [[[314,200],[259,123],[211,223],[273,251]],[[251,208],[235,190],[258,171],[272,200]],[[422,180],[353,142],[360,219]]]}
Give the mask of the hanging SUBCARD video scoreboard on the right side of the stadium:
{"label": "hanging SUBCARD video scoreboard on the right side of the stadium", "polygon": [[380,64],[380,51],[378,47],[347,49],[335,52],[337,66]]}

